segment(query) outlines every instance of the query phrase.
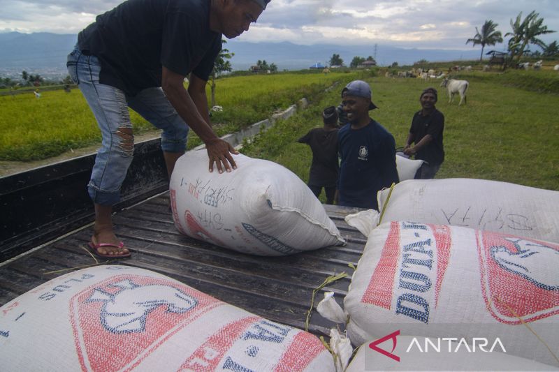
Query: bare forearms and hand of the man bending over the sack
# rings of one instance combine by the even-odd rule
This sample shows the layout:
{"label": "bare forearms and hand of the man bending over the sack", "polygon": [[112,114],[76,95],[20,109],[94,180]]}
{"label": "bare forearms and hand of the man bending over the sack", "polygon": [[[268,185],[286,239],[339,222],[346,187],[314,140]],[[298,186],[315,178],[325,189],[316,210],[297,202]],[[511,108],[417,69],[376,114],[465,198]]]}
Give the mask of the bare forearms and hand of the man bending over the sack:
{"label": "bare forearms and hand of the man bending over the sack", "polygon": [[[195,75],[192,74],[191,76],[194,77]],[[161,88],[180,117],[205,143],[210,158],[210,172],[213,171],[214,163],[217,164],[219,173],[224,170],[231,172],[231,168],[237,168],[231,154],[238,154],[238,152],[233,149],[231,144],[219,139],[209,124],[205,81],[194,77],[194,80],[190,82],[193,86],[190,87],[189,84],[188,91],[184,89],[183,81],[184,76],[163,67]],[[194,96],[191,96],[191,94]]]}

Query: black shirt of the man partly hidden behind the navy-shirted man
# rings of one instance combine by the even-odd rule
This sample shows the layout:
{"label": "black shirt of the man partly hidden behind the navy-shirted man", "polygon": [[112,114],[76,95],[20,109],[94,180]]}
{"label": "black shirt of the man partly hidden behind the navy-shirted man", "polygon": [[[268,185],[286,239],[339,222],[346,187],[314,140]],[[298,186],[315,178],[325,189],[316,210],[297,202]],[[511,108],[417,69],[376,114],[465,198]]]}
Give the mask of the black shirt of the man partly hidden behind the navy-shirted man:
{"label": "black shirt of the man partly hidden behind the navy-shirted man", "polygon": [[340,165],[337,160],[337,129],[326,131],[314,128],[298,142],[306,143],[312,150],[309,184],[312,186],[335,186]]}

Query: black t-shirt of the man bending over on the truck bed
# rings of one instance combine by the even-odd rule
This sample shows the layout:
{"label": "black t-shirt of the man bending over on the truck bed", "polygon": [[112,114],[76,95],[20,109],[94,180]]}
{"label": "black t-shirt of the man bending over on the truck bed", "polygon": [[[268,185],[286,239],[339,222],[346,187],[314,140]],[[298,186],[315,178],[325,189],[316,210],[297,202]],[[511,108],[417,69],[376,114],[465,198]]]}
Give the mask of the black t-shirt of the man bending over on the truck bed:
{"label": "black t-shirt of the man bending over on the truck bed", "polygon": [[101,83],[135,95],[161,87],[161,66],[207,81],[222,34],[210,30],[208,0],[127,0],[96,17],[78,43],[101,61]]}

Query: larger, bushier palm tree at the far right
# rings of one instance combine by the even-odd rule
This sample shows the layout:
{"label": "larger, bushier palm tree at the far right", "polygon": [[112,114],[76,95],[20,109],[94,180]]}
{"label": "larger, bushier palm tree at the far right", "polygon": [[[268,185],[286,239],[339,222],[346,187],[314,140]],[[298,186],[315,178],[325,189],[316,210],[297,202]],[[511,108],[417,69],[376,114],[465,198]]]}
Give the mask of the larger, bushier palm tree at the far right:
{"label": "larger, bushier palm tree at the far right", "polygon": [[511,20],[513,33],[509,32],[504,35],[512,36],[511,40],[509,40],[509,50],[512,52],[511,60],[514,54],[516,54],[516,59],[520,61],[528,44],[534,44],[545,49],[546,44],[537,38],[537,36],[555,32],[547,29],[547,26],[543,24],[544,18],[539,18],[539,13],[536,13],[535,10],[532,10],[522,22],[520,21],[521,18],[522,12],[516,17],[516,22],[514,22],[514,24]]}

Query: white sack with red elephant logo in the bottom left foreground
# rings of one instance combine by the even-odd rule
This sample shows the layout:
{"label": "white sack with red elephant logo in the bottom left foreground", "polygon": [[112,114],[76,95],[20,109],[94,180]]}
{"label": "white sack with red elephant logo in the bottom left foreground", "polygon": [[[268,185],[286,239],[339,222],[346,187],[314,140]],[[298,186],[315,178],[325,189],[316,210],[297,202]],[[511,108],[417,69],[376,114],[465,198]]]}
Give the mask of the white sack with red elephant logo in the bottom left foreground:
{"label": "white sack with red elephant logo in the bottom left foreground", "polygon": [[333,371],[314,335],[167,276],[82,269],[0,308],[2,371]]}

